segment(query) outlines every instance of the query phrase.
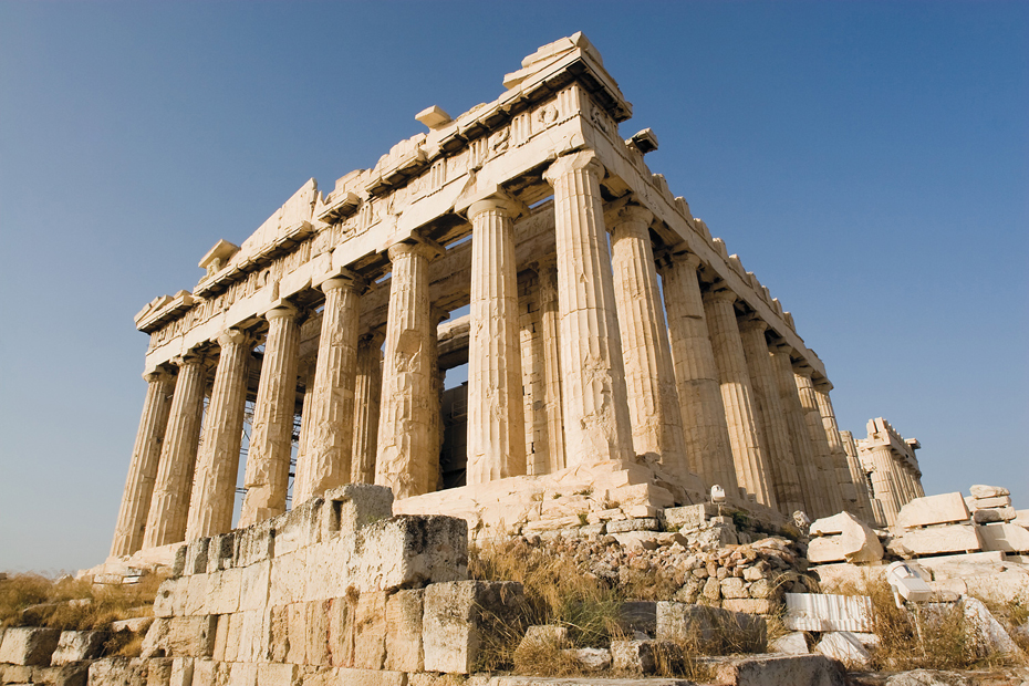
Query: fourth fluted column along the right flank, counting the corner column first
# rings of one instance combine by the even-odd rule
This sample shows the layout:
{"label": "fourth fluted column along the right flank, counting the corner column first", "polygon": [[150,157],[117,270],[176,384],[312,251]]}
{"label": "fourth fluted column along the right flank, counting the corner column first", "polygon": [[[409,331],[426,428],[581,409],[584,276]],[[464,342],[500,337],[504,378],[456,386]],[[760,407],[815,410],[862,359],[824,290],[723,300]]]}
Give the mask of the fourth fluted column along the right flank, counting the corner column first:
{"label": "fourth fluted column along the right flank, counting the corner column first", "polygon": [[736,460],[736,478],[758,502],[777,508],[772,476],[753,407],[753,387],[736,324],[736,293],[719,288],[704,293],[704,313],[711,334],[711,350],[729,427],[729,445]]}

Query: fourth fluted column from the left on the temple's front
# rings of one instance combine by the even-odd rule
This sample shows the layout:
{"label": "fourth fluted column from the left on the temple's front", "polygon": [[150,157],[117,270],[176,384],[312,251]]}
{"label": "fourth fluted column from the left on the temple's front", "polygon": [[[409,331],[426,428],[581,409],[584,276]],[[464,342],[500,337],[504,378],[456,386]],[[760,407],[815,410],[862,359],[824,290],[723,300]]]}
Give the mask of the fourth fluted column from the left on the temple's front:
{"label": "fourth fluted column from the left on the temple's front", "polygon": [[240,528],[285,511],[297,412],[298,315],[297,309],[289,304],[273,308],[264,315],[268,339],[253,406]]}

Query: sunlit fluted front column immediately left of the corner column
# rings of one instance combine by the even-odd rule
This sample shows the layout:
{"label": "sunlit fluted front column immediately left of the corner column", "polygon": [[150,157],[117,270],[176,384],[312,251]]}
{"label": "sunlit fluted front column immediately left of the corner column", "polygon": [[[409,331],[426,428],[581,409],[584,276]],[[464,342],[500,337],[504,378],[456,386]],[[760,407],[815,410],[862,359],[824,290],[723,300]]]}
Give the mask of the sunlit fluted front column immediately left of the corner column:
{"label": "sunlit fluted front column immediately left of the corner column", "polygon": [[514,218],[522,205],[505,195],[474,202],[471,331],[468,341],[467,484],[526,474],[526,414]]}

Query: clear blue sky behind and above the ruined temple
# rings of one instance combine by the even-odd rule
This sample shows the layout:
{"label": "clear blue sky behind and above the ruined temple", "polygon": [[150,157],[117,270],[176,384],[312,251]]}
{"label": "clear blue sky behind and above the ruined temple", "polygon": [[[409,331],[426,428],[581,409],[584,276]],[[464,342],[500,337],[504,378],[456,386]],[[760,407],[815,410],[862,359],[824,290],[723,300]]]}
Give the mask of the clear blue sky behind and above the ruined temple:
{"label": "clear blue sky behind and above the ruined temple", "polygon": [[841,427],[884,416],[927,491],[1029,508],[1029,3],[4,1],[0,570],[106,557],[145,303],[580,30]]}

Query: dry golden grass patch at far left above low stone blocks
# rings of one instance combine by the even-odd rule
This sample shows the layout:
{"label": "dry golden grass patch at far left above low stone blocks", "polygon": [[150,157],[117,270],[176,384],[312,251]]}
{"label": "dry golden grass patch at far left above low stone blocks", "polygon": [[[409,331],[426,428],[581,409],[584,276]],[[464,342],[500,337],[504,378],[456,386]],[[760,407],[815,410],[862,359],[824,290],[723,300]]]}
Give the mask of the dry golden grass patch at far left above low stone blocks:
{"label": "dry golden grass patch at far left above low stone blocks", "polygon": [[[13,574],[0,581],[0,626],[48,626],[67,631],[104,628],[149,612],[162,576],[137,584],[93,586],[69,576]],[[119,646],[121,647],[121,646]]]}

